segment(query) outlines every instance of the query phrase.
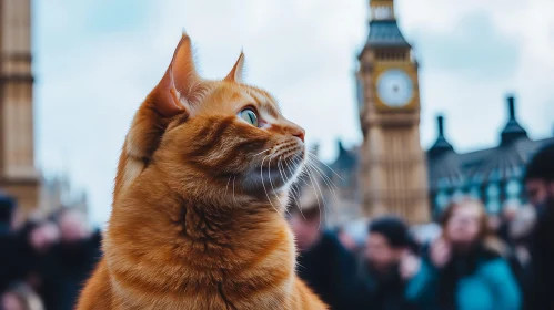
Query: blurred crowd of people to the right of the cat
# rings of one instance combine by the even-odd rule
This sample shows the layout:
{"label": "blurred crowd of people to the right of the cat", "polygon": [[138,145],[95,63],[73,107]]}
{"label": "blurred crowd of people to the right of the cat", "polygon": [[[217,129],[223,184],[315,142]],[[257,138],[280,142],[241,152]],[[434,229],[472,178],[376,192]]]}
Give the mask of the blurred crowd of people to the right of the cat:
{"label": "blurred crowd of people to the right of the cat", "polygon": [[554,145],[535,154],[524,184],[528,205],[506,203],[490,215],[483,202],[460,196],[434,236],[383,216],[357,242],[345,229],[320,229],[319,202],[304,193],[289,218],[299,275],[338,310],[552,310]]}

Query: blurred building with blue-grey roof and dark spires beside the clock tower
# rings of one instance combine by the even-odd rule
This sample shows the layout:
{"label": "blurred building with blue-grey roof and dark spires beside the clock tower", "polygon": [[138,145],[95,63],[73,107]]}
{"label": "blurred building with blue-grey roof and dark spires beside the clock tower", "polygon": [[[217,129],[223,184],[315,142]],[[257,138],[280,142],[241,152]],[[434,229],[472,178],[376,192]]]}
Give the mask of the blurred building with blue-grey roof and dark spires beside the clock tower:
{"label": "blurred building with blue-grey roof and dark spires beside the clock tower", "polygon": [[[517,123],[515,99],[507,96],[508,120],[497,146],[456,153],[444,134],[444,117],[437,116],[437,138],[427,151],[432,211],[441,211],[456,195],[482,199],[496,214],[507,203],[525,203],[522,177],[531,156],[554,137],[533,141]],[[467,125],[471,126],[471,123]]]}

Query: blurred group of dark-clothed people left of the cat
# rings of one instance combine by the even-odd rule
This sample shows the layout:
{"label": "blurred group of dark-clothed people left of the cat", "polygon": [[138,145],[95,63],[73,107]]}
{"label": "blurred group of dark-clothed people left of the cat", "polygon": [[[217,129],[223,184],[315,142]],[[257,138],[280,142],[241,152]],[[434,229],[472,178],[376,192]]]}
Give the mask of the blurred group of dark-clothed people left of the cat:
{"label": "blurred group of dark-clothed people left of the cat", "polygon": [[75,209],[17,224],[0,198],[0,310],[70,310],[101,256],[100,231]]}

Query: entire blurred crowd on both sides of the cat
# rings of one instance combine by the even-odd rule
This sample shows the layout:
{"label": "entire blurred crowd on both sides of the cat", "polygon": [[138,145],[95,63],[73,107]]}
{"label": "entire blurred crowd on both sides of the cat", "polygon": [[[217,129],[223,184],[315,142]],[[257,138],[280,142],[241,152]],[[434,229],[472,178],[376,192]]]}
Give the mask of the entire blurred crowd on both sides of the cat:
{"label": "entire blurred crowd on both sides of the cat", "polygon": [[[298,272],[335,310],[554,309],[554,145],[526,167],[527,205],[498,215],[460,196],[442,210],[434,234],[383,216],[363,241],[346,229],[322,229],[315,194],[290,210]],[[0,310],[73,309],[101,256],[101,234],[79,210],[14,224],[0,196]]]}

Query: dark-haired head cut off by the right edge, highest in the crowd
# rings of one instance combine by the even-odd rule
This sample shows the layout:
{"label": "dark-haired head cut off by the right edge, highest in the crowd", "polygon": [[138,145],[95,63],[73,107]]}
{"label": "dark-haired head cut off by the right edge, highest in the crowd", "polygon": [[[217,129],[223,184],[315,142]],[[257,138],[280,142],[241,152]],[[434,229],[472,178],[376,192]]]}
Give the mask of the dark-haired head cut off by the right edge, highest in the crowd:
{"label": "dark-haired head cut off by the right edge, highest in the crowd", "polygon": [[538,206],[554,199],[554,143],[540,149],[527,164],[525,192],[528,202]]}

